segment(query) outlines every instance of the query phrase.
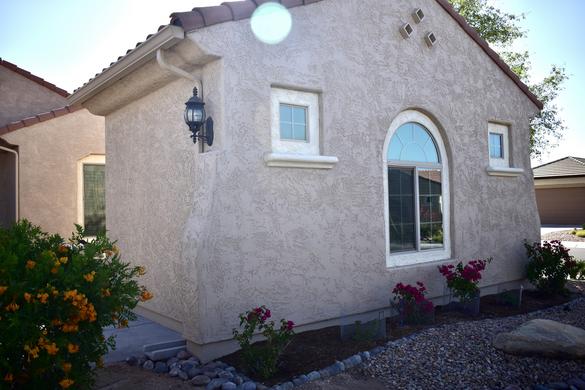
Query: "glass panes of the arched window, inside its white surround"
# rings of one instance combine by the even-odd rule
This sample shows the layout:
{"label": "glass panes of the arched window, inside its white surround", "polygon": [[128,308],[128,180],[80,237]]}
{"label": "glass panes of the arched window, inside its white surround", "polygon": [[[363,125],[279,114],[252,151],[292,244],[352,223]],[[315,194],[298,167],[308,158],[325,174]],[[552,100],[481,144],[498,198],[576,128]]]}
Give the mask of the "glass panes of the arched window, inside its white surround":
{"label": "glass panes of the arched window, inside its white surround", "polygon": [[390,253],[443,248],[443,167],[433,136],[419,123],[401,125],[387,161]]}

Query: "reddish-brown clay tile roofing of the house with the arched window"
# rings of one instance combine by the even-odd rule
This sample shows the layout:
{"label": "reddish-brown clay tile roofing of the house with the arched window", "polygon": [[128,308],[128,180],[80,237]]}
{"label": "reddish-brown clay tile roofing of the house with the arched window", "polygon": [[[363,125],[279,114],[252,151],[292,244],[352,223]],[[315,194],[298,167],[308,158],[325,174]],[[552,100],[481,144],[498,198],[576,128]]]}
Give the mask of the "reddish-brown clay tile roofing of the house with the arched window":
{"label": "reddish-brown clay tile roofing of the house with the arched window", "polygon": [[[171,21],[170,25],[181,27],[185,33],[189,33],[191,31],[195,31],[204,27],[209,27],[215,24],[229,22],[229,21],[236,21],[241,19],[247,19],[252,16],[254,10],[264,3],[268,3],[271,1],[279,2],[280,4],[284,5],[287,8],[299,7],[304,5],[309,5],[313,3],[318,3],[323,0],[243,0],[243,1],[233,1],[233,2],[225,2],[221,5],[211,6],[211,7],[195,7],[191,11],[187,12],[174,12],[171,14]],[[524,92],[524,94],[539,108],[542,110],[543,104],[538,97],[534,95],[528,86],[520,80],[518,75],[514,73],[510,67],[502,60],[502,58],[490,48],[489,44],[471,27],[465,18],[455,11],[453,6],[449,3],[448,0],[435,0],[439,5],[453,18],[455,21],[463,28],[463,30],[481,47],[481,49],[496,63],[496,65],[502,69],[502,71],[508,75],[512,79],[512,81]],[[160,31],[165,26],[160,26],[158,31]],[[153,34],[148,35],[146,40],[150,39]],[[102,73],[107,69],[111,68],[115,64],[117,64],[120,60],[130,54],[132,51],[140,47],[145,42],[138,42],[134,49],[130,49],[126,52],[124,56],[118,57],[115,62],[112,62],[108,68],[104,68]],[[100,73],[96,74],[94,78],[90,79],[88,82],[83,84],[82,87],[75,90],[78,90],[85,87],[87,84],[92,82],[95,78],[97,78]],[[74,92],[74,93],[75,93]]]}

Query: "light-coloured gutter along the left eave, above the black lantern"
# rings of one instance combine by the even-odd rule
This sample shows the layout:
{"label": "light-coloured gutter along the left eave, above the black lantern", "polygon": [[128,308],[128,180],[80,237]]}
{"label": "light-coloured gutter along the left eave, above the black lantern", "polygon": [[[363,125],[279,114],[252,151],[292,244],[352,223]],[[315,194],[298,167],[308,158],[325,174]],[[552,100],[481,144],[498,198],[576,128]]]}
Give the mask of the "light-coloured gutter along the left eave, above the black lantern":
{"label": "light-coloured gutter along the left eave, above the black lantern", "polygon": [[154,57],[155,50],[168,49],[185,38],[181,27],[168,25],[142,42],[128,55],[104,70],[67,98],[69,105],[83,103]]}

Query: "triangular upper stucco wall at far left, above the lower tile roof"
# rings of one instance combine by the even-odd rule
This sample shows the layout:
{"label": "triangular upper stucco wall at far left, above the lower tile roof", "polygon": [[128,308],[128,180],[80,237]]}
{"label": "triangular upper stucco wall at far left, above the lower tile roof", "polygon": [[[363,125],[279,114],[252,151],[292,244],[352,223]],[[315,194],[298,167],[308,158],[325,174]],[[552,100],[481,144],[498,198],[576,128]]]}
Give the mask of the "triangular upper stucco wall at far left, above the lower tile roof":
{"label": "triangular upper stucco wall at far left, above the lower tile roof", "polygon": [[65,97],[0,66],[0,127],[65,105]]}

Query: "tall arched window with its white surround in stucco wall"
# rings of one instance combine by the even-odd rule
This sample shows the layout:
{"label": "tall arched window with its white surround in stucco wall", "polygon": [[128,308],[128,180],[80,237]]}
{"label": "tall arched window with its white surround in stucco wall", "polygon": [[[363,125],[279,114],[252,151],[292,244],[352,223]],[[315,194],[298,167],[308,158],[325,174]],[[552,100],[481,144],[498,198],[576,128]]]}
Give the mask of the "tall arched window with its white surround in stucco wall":
{"label": "tall arched window with its white surround in stucco wall", "polygon": [[438,129],[418,111],[401,113],[384,157],[388,265],[449,258],[449,176]]}

